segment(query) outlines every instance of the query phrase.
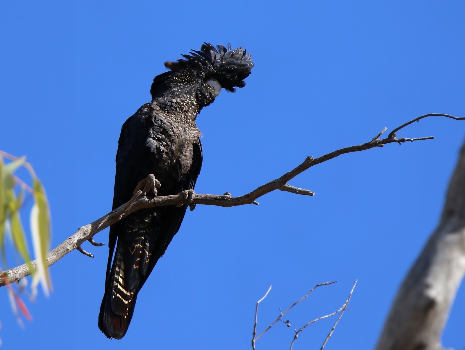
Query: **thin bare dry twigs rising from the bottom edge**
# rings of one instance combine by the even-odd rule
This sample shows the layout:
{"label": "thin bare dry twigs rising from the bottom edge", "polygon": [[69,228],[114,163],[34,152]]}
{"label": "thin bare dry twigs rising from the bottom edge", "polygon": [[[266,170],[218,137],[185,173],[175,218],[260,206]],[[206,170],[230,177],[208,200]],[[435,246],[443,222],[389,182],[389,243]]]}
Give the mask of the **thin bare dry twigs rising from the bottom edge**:
{"label": "thin bare dry twigs rising from the bottom edge", "polygon": [[[329,338],[332,336],[332,333],[334,332],[334,330],[336,329],[336,325],[339,323],[340,319],[342,318],[342,315],[344,314],[344,311],[346,309],[349,309],[347,307],[347,305],[349,304],[349,301],[352,297],[352,293],[353,293],[353,290],[355,289],[355,285],[357,284],[357,281],[358,280],[355,280],[354,284],[353,284],[353,287],[352,287],[352,290],[349,294],[349,298],[347,298],[347,300],[345,301],[344,305],[342,305],[341,308],[339,308],[337,311],[334,311],[330,314],[327,314],[325,316],[321,316],[319,318],[315,318],[313,321],[310,321],[306,324],[304,324],[302,327],[299,328],[299,330],[296,330],[294,328],[294,337],[292,338],[292,342],[291,342],[291,347],[289,348],[290,350],[292,350],[292,347],[294,346],[294,342],[296,341],[296,339],[299,337],[299,333],[301,331],[303,331],[306,327],[308,327],[310,324],[313,324],[323,318],[328,318],[328,317],[331,317],[331,316],[334,316],[336,315],[338,312],[340,312],[339,314],[339,318],[336,320],[336,322],[333,324],[332,326],[332,329],[331,331],[328,333],[328,335],[326,336],[326,339],[325,341],[323,342],[323,345],[321,345],[321,348],[320,350],[323,350],[323,348],[326,346],[326,343],[328,342]],[[315,285],[306,295],[304,295],[302,298],[300,298],[299,300],[297,300],[294,304],[292,304],[291,306],[289,306],[286,311],[281,311],[281,308],[279,308],[279,316],[278,318],[276,318],[268,327],[266,327],[265,331],[261,332],[258,336],[257,336],[257,319],[258,319],[258,313],[259,313],[259,304],[266,298],[266,296],[268,295],[268,293],[271,291],[271,285],[270,285],[270,288],[268,288],[268,291],[266,292],[266,294],[263,296],[263,298],[261,298],[259,301],[257,301],[257,304],[255,306],[255,323],[253,324],[253,333],[252,333],[252,349],[255,350],[255,342],[261,337],[263,336],[272,326],[274,326],[278,321],[281,321],[283,322],[284,324],[286,324],[287,327],[291,327],[291,323],[290,323],[290,320],[286,320],[284,321],[282,319],[282,317],[284,315],[286,315],[286,313],[288,311],[290,311],[295,305],[299,304],[302,300],[304,300],[305,298],[307,298],[316,288],[318,288],[319,286],[321,285],[332,285],[333,283],[336,283],[337,281],[329,281],[329,282],[325,282],[325,283],[319,283],[318,285]]]}

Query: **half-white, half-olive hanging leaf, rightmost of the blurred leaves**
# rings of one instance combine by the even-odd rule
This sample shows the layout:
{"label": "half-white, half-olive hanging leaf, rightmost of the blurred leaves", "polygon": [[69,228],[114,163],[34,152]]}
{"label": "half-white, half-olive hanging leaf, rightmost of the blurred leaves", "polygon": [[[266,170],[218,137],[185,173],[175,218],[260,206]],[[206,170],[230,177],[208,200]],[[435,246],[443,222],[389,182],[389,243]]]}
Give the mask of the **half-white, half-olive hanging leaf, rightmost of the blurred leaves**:
{"label": "half-white, half-olive hanging leaf, rightmost of the blurred leaves", "polygon": [[[48,296],[52,282],[47,266],[47,253],[50,249],[50,211],[45,190],[37,177],[33,177],[35,203],[31,210],[31,232],[34,253],[37,259],[38,278],[44,293]],[[34,285],[34,282],[33,282]]]}

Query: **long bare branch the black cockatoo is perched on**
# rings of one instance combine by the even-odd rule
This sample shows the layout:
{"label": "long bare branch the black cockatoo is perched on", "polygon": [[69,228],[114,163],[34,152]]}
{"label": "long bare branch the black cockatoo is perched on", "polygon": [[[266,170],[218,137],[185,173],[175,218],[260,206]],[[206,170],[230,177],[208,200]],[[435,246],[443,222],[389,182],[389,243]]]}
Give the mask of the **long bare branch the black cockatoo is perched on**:
{"label": "long bare branch the black cockatoo is perched on", "polygon": [[[314,193],[303,188],[296,188],[289,184],[288,181],[292,180],[295,176],[299,175],[303,171],[311,168],[314,165],[317,165],[322,162],[326,162],[332,158],[337,156],[363,151],[366,149],[372,149],[374,147],[383,147],[385,144],[388,143],[404,143],[406,141],[413,142],[419,140],[428,140],[433,139],[433,136],[428,137],[419,137],[419,138],[397,138],[394,131],[399,131],[400,129],[404,128],[405,126],[413,123],[416,120],[419,120],[424,117],[430,116],[445,116],[451,117],[454,119],[465,119],[465,118],[458,118],[449,116],[446,114],[427,114],[421,117],[414,119],[408,123],[401,125],[400,127],[394,129],[387,138],[379,139],[379,137],[385,132],[385,130],[381,131],[377,136],[375,136],[371,141],[355,146],[346,147],[343,149],[338,149],[331,153],[325,154],[324,156],[320,156],[318,158],[313,158],[311,156],[306,157],[305,161],[299,164],[296,168],[292,169],[291,171],[287,172],[286,174],[282,175],[276,180],[272,180],[259,188],[254,189],[252,192],[247,194],[232,197],[230,194],[223,194],[223,195],[215,195],[215,194],[196,194],[193,198],[193,201],[189,201],[189,205],[194,206],[196,204],[205,204],[205,205],[215,205],[220,207],[233,207],[238,205],[244,204],[258,204],[256,199],[272,192],[274,190],[292,192],[295,194],[303,194],[303,195],[313,195]],[[87,256],[93,257],[91,253],[86,252],[84,249],[80,248],[80,245],[85,242],[86,240],[91,240],[93,235],[100,232],[101,230],[109,227],[125,216],[132,214],[133,212],[144,209],[144,208],[151,208],[151,207],[159,207],[159,206],[166,206],[166,205],[178,205],[178,204],[186,204],[186,196],[183,193],[161,196],[161,197],[146,197],[145,195],[140,195],[137,199],[132,199],[126,204],[114,209],[112,212],[102,216],[100,219],[93,221],[91,224],[86,226],[80,227],[80,229],[74,233],[72,236],[67,238],[64,242],[60,243],[57,247],[55,247],[52,251],[50,251],[47,255],[47,264],[48,266],[53,265],[59,259],[64,257],[67,253],[71,252],[72,250],[78,248],[81,253],[86,254]],[[37,261],[32,262],[33,270],[37,268]],[[1,274],[0,279],[0,286],[6,285],[8,283],[16,282],[23,277],[26,277],[31,274],[31,270],[26,264],[21,266],[14,267],[10,270],[7,270]]]}

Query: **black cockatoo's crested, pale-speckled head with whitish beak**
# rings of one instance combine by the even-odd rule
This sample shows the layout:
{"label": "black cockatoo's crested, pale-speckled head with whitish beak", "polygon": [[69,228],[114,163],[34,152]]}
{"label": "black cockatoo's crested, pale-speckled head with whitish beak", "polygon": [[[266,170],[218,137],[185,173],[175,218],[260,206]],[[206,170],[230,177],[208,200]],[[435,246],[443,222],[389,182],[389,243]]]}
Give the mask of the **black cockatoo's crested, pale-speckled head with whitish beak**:
{"label": "black cockatoo's crested, pale-speckled head with whitish beak", "polygon": [[234,92],[244,87],[253,68],[252,55],[242,47],[233,50],[204,43],[200,51],[182,55],[174,62],[165,62],[170,69],[153,79],[150,93],[157,97],[195,97],[199,107],[211,104],[221,88]]}

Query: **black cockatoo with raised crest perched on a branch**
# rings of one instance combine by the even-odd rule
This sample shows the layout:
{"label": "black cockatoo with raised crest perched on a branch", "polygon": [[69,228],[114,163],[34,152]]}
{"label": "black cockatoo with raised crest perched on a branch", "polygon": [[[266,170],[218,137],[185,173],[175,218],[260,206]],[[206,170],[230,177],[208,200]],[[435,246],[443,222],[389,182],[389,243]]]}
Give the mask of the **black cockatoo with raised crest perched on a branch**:
{"label": "black cockatoo with raised crest perched on a branch", "polygon": [[[221,88],[234,92],[235,87],[244,87],[253,67],[252,56],[231,45],[215,48],[204,43],[200,51],[182,56],[165,63],[169,71],[153,79],[152,102],[123,124],[113,209],[129,201],[136,186],[150,174],[161,183],[158,195],[194,188],[202,166],[197,114],[215,100]],[[137,293],[178,232],[186,206],[143,209],[110,227],[99,314],[99,328],[107,337],[120,339],[126,334]]]}

